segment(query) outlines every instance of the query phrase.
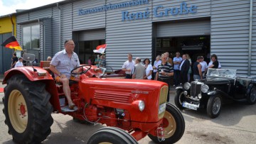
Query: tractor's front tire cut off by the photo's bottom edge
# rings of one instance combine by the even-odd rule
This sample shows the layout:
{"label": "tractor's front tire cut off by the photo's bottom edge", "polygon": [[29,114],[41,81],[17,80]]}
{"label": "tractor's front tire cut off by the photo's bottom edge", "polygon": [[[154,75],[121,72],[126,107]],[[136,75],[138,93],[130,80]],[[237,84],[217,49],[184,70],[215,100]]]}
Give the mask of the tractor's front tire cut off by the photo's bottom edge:
{"label": "tractor's front tire cut off by the photo's bottom edge", "polygon": [[120,128],[105,127],[96,131],[87,144],[112,143],[112,144],[138,144],[132,135]]}

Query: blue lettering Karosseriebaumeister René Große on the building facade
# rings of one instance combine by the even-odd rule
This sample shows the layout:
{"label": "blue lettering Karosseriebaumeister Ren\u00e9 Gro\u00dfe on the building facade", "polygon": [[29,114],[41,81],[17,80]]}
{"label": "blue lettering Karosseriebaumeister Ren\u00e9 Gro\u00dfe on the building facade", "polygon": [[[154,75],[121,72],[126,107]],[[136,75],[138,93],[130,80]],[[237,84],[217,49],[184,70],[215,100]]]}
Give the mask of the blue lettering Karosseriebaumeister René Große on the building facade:
{"label": "blue lettering Karosseriebaumeister Ren\u00e9 Gro\u00dfe on the building facade", "polygon": [[[108,11],[112,9],[139,6],[143,4],[149,4],[149,0],[134,0],[134,1],[122,2],[118,4],[108,4],[105,6],[95,7],[92,9],[80,9],[78,13],[79,13],[79,16],[81,16],[88,13],[97,13],[100,11]],[[122,11],[122,21],[133,21],[138,19],[149,18],[151,13],[153,17],[185,15],[188,13],[196,13],[197,8],[198,7],[196,5],[188,6],[186,2],[182,2],[178,7],[165,8],[164,6],[155,6],[152,12],[149,11],[149,8],[146,8],[146,10],[143,12],[137,12],[137,13]]]}

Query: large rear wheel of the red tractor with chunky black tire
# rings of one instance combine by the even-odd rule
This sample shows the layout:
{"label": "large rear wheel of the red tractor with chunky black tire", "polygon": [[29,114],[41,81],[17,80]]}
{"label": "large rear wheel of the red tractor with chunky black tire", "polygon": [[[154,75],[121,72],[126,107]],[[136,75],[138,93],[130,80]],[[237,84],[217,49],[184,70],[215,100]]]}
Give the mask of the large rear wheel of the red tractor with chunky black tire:
{"label": "large rear wheel of the red tractor with chunky black tire", "polygon": [[16,143],[41,143],[53,124],[50,94],[42,82],[14,75],[4,88],[4,115],[9,134]]}

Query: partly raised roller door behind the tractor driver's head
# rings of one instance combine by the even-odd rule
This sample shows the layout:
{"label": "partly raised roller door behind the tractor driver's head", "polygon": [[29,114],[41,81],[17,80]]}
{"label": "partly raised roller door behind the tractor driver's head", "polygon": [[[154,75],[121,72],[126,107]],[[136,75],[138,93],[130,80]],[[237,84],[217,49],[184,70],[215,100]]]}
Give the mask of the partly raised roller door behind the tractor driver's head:
{"label": "partly raised roller door behind the tractor driver's head", "polygon": [[105,30],[82,31],[81,33],[79,33],[79,40],[105,40],[105,35]]}

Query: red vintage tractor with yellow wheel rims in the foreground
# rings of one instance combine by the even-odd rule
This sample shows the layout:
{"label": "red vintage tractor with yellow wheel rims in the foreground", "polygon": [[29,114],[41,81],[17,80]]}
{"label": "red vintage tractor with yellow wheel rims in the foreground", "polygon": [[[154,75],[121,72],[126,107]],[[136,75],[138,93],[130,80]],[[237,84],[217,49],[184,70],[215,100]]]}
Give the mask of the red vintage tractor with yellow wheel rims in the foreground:
{"label": "red vintage tractor with yellow wheel rims in the foreground", "polygon": [[[33,61],[33,56],[24,55],[24,60]],[[51,131],[53,112],[68,114],[76,121],[106,124],[88,144],[134,144],[146,135],[155,143],[181,139],[185,121],[181,112],[166,102],[166,83],[107,78],[92,65],[81,65],[72,73],[80,74],[79,80],[70,81],[74,110],[67,109],[62,85],[48,70],[26,66],[5,72],[3,112],[14,142],[45,140]]]}

